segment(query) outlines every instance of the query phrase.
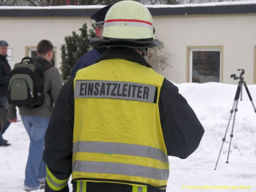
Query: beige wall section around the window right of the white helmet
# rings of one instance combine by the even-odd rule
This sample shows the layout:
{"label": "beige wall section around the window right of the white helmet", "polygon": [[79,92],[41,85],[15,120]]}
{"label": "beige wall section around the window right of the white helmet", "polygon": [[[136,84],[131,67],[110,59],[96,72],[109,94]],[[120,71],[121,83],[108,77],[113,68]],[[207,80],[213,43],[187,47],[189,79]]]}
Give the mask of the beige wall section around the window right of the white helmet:
{"label": "beige wall section around the window right of the white helmet", "polygon": [[230,78],[245,69],[244,80],[256,84],[255,56],[256,14],[157,16],[154,17],[156,36],[164,42],[164,50],[171,54],[170,66],[161,73],[175,83],[188,82],[188,47],[223,47],[223,79],[221,82],[237,84]]}

